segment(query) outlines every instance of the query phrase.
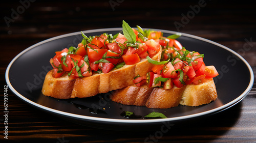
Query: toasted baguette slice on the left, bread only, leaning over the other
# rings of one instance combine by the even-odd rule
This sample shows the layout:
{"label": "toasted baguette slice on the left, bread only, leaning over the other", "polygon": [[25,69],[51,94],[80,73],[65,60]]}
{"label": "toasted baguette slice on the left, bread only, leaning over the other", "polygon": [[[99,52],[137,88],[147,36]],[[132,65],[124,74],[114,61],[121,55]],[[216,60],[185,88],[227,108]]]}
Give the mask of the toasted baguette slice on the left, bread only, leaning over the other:
{"label": "toasted baguette slice on the left, bread only, leaning over the other", "polygon": [[[160,61],[162,49],[156,53],[152,60]],[[134,65],[125,65],[120,69],[114,69],[109,73],[93,74],[92,76],[77,79],[69,79],[67,73],[61,77],[54,78],[53,70],[46,75],[42,86],[42,94],[59,99],[84,98],[95,96],[99,93],[122,89],[134,84],[133,78],[146,75],[154,64],[148,63],[146,59]]]}

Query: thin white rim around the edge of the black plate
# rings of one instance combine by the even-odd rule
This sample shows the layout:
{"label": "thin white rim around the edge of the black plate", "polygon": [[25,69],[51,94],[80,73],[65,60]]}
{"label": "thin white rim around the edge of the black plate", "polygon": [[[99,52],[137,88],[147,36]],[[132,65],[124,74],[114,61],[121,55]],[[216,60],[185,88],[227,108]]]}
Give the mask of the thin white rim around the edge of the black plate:
{"label": "thin white rim around the edge of the black plate", "polygon": [[[159,30],[159,29],[153,29],[153,28],[146,28],[146,29],[151,29],[151,30],[155,30],[155,31],[161,31],[163,33],[169,33],[169,34],[176,34],[178,32],[174,32],[174,31],[167,31],[167,30]],[[96,30],[87,30],[87,31],[83,31],[83,33],[94,33],[94,32],[109,32],[109,31],[122,31],[122,28],[100,28],[100,29],[96,29]],[[195,114],[192,114],[192,115],[186,115],[186,116],[181,116],[181,117],[173,117],[173,118],[167,118],[167,119],[151,119],[151,120],[131,120],[131,119],[109,119],[109,118],[99,118],[99,117],[90,117],[90,116],[82,116],[82,115],[76,115],[74,113],[69,113],[69,112],[65,112],[65,111],[59,111],[59,110],[56,110],[56,109],[52,109],[52,108],[49,108],[49,107],[46,107],[46,106],[42,106],[38,103],[35,103],[27,98],[25,98],[23,95],[19,94],[13,87],[12,87],[12,84],[9,80],[9,70],[12,66],[12,64],[16,61],[16,59],[19,58],[20,55],[24,54],[25,52],[27,52],[28,50],[32,49],[32,48],[35,48],[36,46],[38,45],[41,45],[41,44],[44,44],[44,43],[47,43],[49,41],[53,41],[53,40],[56,40],[56,39],[60,39],[60,38],[64,38],[64,37],[68,37],[68,36],[73,36],[73,35],[78,35],[80,34],[81,32],[74,32],[74,33],[69,33],[69,34],[65,34],[65,35],[60,35],[60,36],[56,36],[56,37],[53,37],[53,38],[50,38],[50,39],[47,39],[47,40],[44,40],[44,41],[41,41],[39,43],[36,43],[30,47],[28,47],[27,49],[23,50],[22,52],[20,52],[18,55],[15,56],[15,58],[10,62],[10,64],[8,65],[7,69],[6,69],[6,75],[5,75],[5,78],[6,78],[6,82],[8,84],[8,87],[10,88],[10,90],[16,95],[18,96],[20,99],[24,100],[25,102],[29,103],[29,104],[32,104],[36,107],[39,107],[41,109],[44,109],[46,111],[50,111],[52,113],[57,113],[61,116],[68,116],[68,117],[72,117],[72,118],[78,118],[78,119],[83,119],[83,120],[93,120],[93,121],[104,121],[104,122],[115,122],[115,123],[159,123],[159,122],[167,122],[167,121],[179,121],[179,120],[185,120],[185,119],[190,119],[190,118],[195,118],[195,117],[200,117],[200,116],[204,116],[204,115],[208,115],[209,113],[215,113],[215,112],[218,112],[218,111],[221,111],[221,110],[224,110],[226,108],[229,108],[231,106],[233,106],[234,104],[238,103],[239,101],[241,101],[251,90],[252,86],[253,86],[253,81],[254,81],[254,75],[253,75],[253,71],[250,67],[250,65],[247,63],[247,61],[240,55],[238,54],[237,52],[229,49],[228,47],[226,46],[223,46],[219,43],[216,43],[214,41],[211,41],[211,40],[208,40],[208,39],[205,39],[205,38],[201,38],[201,37],[198,37],[198,36],[194,36],[194,35],[190,35],[190,34],[185,34],[185,33],[181,33],[182,36],[186,36],[186,37],[190,37],[190,38],[194,38],[194,39],[198,39],[198,40],[201,40],[201,41],[205,41],[205,42],[208,42],[208,43],[211,43],[211,44],[214,44],[214,45],[217,45],[223,49],[226,49],[228,50],[229,52],[233,53],[234,55],[237,55],[245,64],[246,66],[248,67],[249,71],[250,71],[250,83],[248,85],[248,87],[246,88],[246,90],[236,99],[228,102],[227,104],[224,104],[220,107],[217,107],[215,109],[211,109],[211,110],[207,110],[207,111],[204,111],[204,112],[200,112],[200,113],[195,113]]]}

